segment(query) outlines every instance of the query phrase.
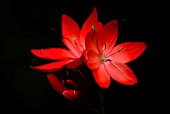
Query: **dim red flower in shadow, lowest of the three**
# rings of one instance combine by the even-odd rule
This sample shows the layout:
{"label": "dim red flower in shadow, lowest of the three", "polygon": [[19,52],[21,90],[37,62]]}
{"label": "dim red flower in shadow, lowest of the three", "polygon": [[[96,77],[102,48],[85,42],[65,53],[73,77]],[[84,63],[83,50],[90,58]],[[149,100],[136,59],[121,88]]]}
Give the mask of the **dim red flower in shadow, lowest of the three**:
{"label": "dim red flower in shadow, lowest of the three", "polygon": [[54,90],[71,102],[87,101],[87,82],[80,71],[74,70],[71,74],[59,76],[53,73],[47,75]]}

